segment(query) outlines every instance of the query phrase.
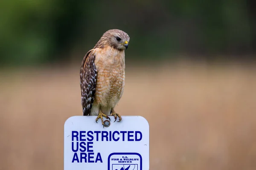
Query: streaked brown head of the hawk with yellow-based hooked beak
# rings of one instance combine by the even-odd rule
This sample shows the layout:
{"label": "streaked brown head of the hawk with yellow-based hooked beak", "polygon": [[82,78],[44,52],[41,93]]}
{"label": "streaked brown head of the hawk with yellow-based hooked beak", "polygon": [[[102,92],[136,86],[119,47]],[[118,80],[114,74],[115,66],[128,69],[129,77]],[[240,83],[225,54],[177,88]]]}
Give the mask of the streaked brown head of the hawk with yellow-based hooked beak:
{"label": "streaked brown head of the hawk with yellow-based hooked beak", "polygon": [[[99,42],[102,42],[104,45],[109,45],[112,48],[118,50],[125,50],[128,48],[130,37],[124,31],[119,29],[111,29],[105,32]],[[98,42],[98,43],[99,43]]]}

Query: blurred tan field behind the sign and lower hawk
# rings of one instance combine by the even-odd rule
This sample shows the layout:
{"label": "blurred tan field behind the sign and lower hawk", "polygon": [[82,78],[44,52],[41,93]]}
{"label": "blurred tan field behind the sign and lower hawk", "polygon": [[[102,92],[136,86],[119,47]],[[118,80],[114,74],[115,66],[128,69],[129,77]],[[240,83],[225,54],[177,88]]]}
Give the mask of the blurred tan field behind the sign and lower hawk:
{"label": "blurred tan field behind the sign and lower hawk", "polygon": [[[62,170],[79,66],[21,70],[0,73],[0,170]],[[256,169],[255,65],[128,67],[116,111],[148,120],[151,170]]]}

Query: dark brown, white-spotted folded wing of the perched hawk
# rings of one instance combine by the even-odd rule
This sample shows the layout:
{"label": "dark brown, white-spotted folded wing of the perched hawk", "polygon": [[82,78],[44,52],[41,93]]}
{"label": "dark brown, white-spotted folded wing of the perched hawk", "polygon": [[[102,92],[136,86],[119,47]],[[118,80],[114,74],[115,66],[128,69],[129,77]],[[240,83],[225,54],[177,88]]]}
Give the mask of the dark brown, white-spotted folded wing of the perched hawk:
{"label": "dark brown, white-spotted folded wing of the perched hawk", "polygon": [[93,50],[87,52],[80,68],[81,104],[84,116],[90,115],[96,91],[97,69]]}

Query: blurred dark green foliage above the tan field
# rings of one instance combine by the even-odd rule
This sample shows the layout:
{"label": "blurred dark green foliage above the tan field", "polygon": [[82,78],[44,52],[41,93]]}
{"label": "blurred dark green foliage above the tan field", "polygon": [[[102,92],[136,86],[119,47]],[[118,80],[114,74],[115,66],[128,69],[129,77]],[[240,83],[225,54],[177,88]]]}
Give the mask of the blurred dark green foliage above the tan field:
{"label": "blurred dark green foliage above the tan field", "polygon": [[254,0],[3,0],[0,63],[81,59],[113,28],[130,35],[128,53],[134,58],[255,54],[254,5]]}

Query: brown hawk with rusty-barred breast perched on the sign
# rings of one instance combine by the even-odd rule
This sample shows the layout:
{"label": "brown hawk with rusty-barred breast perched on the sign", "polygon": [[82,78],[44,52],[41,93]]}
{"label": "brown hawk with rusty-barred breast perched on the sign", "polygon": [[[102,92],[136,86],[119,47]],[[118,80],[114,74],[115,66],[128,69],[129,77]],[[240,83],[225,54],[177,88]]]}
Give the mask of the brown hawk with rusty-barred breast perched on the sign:
{"label": "brown hawk with rusty-barred breast perched on the sign", "polygon": [[114,111],[125,86],[125,50],[130,37],[124,31],[106,31],[93,49],[87,52],[80,68],[81,105],[84,116],[110,119],[122,117]]}

